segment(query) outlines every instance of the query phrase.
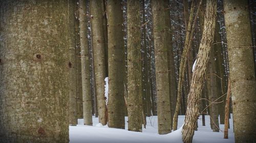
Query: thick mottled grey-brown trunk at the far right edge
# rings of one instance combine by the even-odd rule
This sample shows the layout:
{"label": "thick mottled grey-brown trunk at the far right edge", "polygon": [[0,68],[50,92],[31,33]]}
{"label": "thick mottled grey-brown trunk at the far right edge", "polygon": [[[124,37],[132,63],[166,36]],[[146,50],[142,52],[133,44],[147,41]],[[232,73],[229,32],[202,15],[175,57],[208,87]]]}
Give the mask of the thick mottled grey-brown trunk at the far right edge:
{"label": "thick mottled grey-brown trunk at the far right edge", "polygon": [[256,81],[247,1],[224,1],[234,139],[256,141]]}

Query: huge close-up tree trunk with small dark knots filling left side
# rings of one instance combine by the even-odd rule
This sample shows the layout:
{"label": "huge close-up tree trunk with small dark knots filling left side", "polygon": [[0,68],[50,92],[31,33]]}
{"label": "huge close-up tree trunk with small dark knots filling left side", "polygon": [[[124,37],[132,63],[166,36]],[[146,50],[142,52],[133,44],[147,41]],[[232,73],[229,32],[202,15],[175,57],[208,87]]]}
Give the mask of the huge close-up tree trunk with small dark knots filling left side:
{"label": "huge close-up tree trunk with small dark knots filling left side", "polygon": [[0,142],[69,142],[72,1],[1,1]]}

